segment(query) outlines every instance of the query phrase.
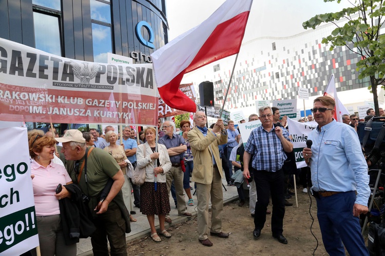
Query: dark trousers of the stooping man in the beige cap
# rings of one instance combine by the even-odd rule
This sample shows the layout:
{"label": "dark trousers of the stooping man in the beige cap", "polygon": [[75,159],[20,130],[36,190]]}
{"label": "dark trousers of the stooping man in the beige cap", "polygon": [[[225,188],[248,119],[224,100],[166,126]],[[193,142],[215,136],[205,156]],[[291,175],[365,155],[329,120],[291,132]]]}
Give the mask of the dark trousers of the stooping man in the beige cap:
{"label": "dark trousers of the stooping man in the beige cap", "polygon": [[104,214],[93,219],[97,228],[91,236],[93,255],[108,256],[107,239],[112,255],[127,255],[126,223],[117,204],[110,204]]}

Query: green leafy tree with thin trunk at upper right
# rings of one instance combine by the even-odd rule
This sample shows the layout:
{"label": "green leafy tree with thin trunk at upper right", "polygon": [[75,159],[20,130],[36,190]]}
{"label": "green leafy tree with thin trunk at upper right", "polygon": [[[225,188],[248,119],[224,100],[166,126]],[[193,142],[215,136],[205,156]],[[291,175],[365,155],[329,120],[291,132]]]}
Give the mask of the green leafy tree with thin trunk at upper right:
{"label": "green leafy tree with thin trunk at upper right", "polygon": [[[340,3],[341,0],[323,0],[323,2]],[[352,7],[342,11],[325,13],[314,16],[302,24],[304,29],[315,29],[323,23],[333,23],[336,29],[332,34],[322,39],[323,44],[330,44],[330,50],[346,46],[350,51],[361,56],[357,62],[358,78],[370,77],[369,90],[373,93],[376,115],[378,111],[377,86],[384,81],[385,74],[385,35],[380,34],[385,19],[385,4],[383,0],[358,0]],[[347,23],[339,26],[336,21],[346,19]]]}

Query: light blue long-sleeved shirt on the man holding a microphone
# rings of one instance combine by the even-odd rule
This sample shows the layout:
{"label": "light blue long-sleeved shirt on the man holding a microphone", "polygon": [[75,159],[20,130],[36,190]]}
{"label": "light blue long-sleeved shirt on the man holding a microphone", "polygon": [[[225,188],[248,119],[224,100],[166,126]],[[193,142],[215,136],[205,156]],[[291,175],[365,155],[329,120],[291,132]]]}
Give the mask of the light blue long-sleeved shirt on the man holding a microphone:
{"label": "light blue long-sleeved shirt on the man holding a microphone", "polygon": [[368,205],[368,165],[352,127],[333,120],[307,137],[313,141],[312,189],[315,191],[357,191],[356,203]]}

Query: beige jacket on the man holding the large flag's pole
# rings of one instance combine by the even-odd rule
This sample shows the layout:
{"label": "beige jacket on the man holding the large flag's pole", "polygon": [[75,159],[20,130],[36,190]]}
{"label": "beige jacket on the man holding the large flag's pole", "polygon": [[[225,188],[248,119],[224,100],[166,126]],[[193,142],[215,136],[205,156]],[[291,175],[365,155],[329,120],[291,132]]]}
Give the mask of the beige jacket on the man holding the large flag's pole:
{"label": "beige jacket on the man holding the large flag's pole", "polygon": [[194,156],[194,170],[191,180],[203,184],[213,182],[213,156],[222,177],[222,161],[219,156],[218,145],[227,143],[227,134],[216,136],[211,132],[211,129],[208,129],[205,137],[197,127],[194,127],[188,132],[187,138],[190,142],[192,156]]}

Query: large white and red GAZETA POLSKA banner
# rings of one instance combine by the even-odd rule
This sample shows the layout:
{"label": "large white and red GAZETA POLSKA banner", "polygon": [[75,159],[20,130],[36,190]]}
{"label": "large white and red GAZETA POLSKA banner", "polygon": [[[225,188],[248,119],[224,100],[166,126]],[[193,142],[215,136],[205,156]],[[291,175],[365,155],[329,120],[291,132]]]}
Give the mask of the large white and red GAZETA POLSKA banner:
{"label": "large white and red GAZETA POLSKA banner", "polygon": [[0,38],[2,121],[157,125],[158,101],[151,64],[74,60]]}

